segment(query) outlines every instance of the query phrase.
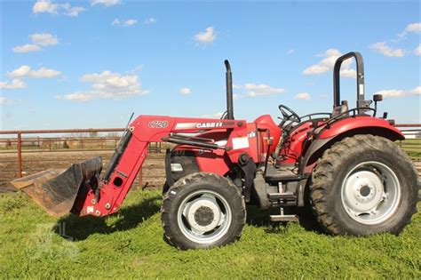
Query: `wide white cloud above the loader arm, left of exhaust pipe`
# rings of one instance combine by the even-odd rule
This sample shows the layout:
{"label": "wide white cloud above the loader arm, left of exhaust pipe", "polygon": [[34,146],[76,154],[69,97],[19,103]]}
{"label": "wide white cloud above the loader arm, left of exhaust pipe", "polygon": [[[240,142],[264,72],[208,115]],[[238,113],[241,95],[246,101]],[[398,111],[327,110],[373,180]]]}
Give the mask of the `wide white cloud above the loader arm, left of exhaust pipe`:
{"label": "wide white cloud above the loader arm, left of exhaust pipe", "polygon": [[91,90],[74,92],[56,96],[59,100],[89,101],[98,99],[121,99],[130,96],[145,95],[149,91],[142,90],[139,77],[136,75],[121,75],[104,71],[82,76],[83,82],[91,83]]}

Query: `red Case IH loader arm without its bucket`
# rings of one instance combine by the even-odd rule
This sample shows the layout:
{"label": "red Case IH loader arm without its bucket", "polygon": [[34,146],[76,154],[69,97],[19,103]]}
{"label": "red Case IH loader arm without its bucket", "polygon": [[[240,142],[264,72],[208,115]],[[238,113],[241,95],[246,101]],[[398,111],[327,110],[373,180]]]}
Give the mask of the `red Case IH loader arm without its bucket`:
{"label": "red Case IH loader arm without its bucket", "polygon": [[[218,146],[211,140],[177,134],[216,129],[227,132],[225,146]],[[80,216],[106,216],[118,211],[145,162],[150,142],[165,141],[200,148],[221,148],[226,150],[231,162],[236,163],[240,154],[249,152],[249,147],[235,147],[235,141],[243,137],[247,137],[247,125],[242,120],[139,116],[129,125],[129,131],[123,137],[126,143],[123,142],[121,150],[117,148],[115,151],[104,176],[99,179],[98,189],[91,188],[85,197],[76,198],[74,213]]]}

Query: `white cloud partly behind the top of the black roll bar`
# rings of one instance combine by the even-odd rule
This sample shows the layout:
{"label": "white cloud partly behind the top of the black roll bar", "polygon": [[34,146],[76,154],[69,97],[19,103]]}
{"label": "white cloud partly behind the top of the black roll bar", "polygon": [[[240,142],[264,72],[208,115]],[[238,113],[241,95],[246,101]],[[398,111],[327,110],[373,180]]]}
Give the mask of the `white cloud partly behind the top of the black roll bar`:
{"label": "white cloud partly behind the top of the black roll bar", "polygon": [[[324,54],[322,54],[323,59],[320,60],[317,64],[314,64],[303,71],[303,75],[321,75],[323,73],[333,70],[335,61],[341,56],[342,53],[337,49],[329,49]],[[351,68],[352,60],[345,60],[342,63],[341,67],[341,76],[345,77],[355,77],[355,70]]]}

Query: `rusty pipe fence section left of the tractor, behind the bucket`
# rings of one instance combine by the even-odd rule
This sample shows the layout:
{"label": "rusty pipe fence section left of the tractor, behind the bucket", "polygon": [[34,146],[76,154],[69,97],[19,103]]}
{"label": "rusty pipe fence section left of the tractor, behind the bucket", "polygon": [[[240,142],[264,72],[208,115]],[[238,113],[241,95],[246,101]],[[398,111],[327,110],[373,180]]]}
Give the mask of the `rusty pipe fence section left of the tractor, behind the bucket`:
{"label": "rusty pipe fence section left of the tractor, behind the bucket", "polygon": [[[0,192],[12,188],[9,182],[13,179],[48,168],[65,168],[90,156],[100,155],[107,164],[123,131],[123,128],[0,131]],[[110,133],[115,136],[107,136]],[[162,153],[163,143],[150,143],[148,151]],[[147,171],[152,169],[157,168],[142,168],[138,185],[144,177],[163,180],[163,175],[144,176],[145,171],[150,173]]]}

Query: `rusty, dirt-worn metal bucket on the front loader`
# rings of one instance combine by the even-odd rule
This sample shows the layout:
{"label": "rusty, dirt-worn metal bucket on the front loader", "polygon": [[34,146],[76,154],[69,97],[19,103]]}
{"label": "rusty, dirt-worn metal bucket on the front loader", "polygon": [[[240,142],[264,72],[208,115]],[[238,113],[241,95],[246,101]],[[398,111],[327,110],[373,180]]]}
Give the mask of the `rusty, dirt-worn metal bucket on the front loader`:
{"label": "rusty, dirt-worn metal bucket on the front loader", "polygon": [[[72,210],[75,200],[80,198],[77,197],[79,188],[99,175],[101,169],[101,157],[93,157],[72,164],[68,169],[49,169],[13,180],[12,184],[27,193],[50,215],[60,217]],[[80,194],[83,196],[85,193]]]}

